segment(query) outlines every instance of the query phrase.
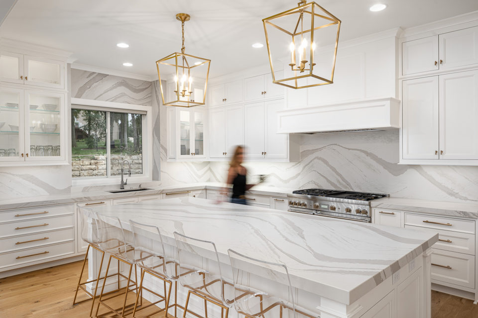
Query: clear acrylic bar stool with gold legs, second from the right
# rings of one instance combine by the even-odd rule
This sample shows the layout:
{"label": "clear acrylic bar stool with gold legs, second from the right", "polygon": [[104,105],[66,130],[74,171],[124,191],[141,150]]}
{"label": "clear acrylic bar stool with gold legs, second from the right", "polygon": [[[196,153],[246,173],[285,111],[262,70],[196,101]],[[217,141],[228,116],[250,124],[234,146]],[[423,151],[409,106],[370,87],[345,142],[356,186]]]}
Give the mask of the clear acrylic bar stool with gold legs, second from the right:
{"label": "clear acrylic bar stool with gold legs, second from the right", "polygon": [[[216,244],[211,241],[194,239],[174,232],[179,256],[179,282],[188,289],[183,318],[190,313],[198,318],[207,318],[207,303],[221,307],[221,318],[228,318],[232,307],[234,284],[226,280],[224,271],[230,271],[229,264],[219,261]],[[204,316],[188,309],[191,294],[204,300]],[[231,295],[231,298],[226,295]],[[226,313],[224,315],[224,313]]]}

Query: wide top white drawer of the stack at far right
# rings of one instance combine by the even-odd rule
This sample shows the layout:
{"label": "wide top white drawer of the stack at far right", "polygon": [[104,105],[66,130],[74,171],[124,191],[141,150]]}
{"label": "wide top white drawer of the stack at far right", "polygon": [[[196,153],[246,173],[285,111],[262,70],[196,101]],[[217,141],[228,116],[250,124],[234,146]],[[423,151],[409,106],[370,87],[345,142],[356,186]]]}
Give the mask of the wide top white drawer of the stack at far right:
{"label": "wide top white drawer of the stack at far right", "polygon": [[405,225],[475,234],[475,221],[405,213]]}

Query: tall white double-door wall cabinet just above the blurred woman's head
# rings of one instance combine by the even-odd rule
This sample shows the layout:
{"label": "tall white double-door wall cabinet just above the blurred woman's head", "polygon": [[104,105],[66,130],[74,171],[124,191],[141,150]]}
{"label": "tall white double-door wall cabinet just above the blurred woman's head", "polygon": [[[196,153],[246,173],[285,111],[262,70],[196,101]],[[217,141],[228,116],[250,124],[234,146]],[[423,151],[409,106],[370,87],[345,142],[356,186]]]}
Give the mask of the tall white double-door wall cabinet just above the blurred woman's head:
{"label": "tall white double-door wall cabinet just above the blurred woman's head", "polygon": [[209,110],[209,157],[230,158],[234,147],[244,144],[243,106],[224,106]]}

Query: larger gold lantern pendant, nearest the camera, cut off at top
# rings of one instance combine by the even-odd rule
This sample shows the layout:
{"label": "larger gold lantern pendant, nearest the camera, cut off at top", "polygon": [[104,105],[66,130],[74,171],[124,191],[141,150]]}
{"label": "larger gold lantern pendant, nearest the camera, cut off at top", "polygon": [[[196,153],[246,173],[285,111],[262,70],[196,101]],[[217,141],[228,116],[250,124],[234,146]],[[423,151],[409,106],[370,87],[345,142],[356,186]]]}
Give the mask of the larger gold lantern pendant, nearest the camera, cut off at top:
{"label": "larger gold lantern pendant, nearest the camera, cut off at top", "polygon": [[[297,89],[334,82],[341,24],[337,17],[315,2],[301,0],[297,7],[262,23],[274,83]],[[285,66],[283,74],[274,73],[274,63],[281,64],[280,70]]]}

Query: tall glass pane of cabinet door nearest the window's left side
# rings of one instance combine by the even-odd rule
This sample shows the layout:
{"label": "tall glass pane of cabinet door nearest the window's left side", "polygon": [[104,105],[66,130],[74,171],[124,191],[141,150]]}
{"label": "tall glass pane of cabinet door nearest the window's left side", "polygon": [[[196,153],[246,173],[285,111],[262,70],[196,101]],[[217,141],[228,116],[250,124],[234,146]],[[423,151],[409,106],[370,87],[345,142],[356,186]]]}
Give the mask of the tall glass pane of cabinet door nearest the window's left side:
{"label": "tall glass pane of cabinet door nearest the window's left side", "polygon": [[[29,95],[30,157],[59,157],[60,149],[60,105],[59,97],[40,94]],[[28,149],[27,149],[28,151]]]}

